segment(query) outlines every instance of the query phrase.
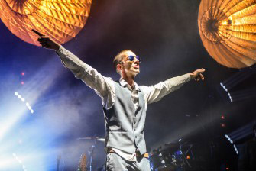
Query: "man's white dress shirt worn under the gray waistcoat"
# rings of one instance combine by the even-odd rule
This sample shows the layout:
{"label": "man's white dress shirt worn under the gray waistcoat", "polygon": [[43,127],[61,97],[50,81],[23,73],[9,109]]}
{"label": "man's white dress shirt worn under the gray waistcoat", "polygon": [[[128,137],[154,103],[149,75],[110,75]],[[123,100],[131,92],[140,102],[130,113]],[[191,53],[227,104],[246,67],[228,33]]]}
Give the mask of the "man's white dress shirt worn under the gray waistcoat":
{"label": "man's white dress shirt worn under the gray waistcoat", "polygon": [[[102,105],[106,109],[112,108],[112,105],[115,103],[115,85],[111,78],[102,76],[96,69],[83,63],[82,60],[79,60],[78,57],[62,46],[57,50],[57,54],[60,56],[63,65],[70,69],[77,79],[81,79],[85,82],[87,86],[93,89],[97,95],[102,98]],[[190,79],[190,74],[187,73],[182,76],[167,79],[164,82],[159,82],[154,86],[138,86],[135,82],[134,89],[131,89],[131,86],[122,78],[119,82],[121,86],[127,86],[131,91],[131,98],[135,108],[138,108],[138,89],[140,89],[144,94],[144,102],[147,110],[147,104],[159,101],[165,95],[179,89],[185,82],[190,81]],[[112,150],[125,158],[125,160],[136,161],[135,151],[134,153],[126,153],[118,149]]]}

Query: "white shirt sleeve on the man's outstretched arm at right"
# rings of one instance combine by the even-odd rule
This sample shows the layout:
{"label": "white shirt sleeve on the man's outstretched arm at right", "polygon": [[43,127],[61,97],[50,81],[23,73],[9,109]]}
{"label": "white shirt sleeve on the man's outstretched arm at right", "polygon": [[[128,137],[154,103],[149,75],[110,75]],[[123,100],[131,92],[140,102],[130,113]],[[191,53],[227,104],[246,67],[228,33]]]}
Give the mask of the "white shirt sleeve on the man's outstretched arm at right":
{"label": "white shirt sleeve on the man's outstretched arm at right", "polygon": [[159,82],[154,86],[141,86],[141,91],[144,92],[147,104],[151,104],[160,101],[165,95],[179,89],[184,83],[189,82],[190,79],[190,73],[187,73],[167,79],[164,82]]}

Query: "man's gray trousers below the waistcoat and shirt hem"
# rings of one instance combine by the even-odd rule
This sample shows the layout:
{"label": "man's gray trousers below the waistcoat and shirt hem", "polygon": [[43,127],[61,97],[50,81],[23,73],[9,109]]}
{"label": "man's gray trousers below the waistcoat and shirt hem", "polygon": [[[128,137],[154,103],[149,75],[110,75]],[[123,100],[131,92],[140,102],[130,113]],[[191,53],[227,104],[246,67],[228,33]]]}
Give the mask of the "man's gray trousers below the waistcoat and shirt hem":
{"label": "man's gray trousers below the waistcoat and shirt hem", "polygon": [[123,159],[117,153],[107,153],[106,171],[151,171],[149,160],[137,157],[137,161]]}

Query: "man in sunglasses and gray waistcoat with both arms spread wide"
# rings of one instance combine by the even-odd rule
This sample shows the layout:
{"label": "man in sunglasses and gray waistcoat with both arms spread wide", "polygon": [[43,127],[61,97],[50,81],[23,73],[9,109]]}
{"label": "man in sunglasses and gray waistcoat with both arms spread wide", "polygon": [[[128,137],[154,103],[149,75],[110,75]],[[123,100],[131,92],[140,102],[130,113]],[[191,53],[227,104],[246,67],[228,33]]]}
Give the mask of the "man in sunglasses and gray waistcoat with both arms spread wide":
{"label": "man in sunglasses and gray waistcoat with both arms spread wide", "polygon": [[120,75],[118,81],[102,76],[78,57],[64,49],[49,37],[35,31],[42,47],[56,50],[60,60],[77,79],[102,98],[105,116],[105,150],[108,171],[150,171],[144,140],[144,124],[147,104],[159,101],[165,95],[179,89],[190,79],[204,79],[205,69],[159,82],[154,86],[138,86],[134,81],[140,73],[141,58],[131,50],[123,50],[114,58],[114,67]]}

